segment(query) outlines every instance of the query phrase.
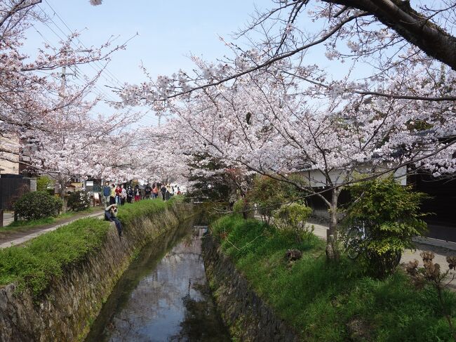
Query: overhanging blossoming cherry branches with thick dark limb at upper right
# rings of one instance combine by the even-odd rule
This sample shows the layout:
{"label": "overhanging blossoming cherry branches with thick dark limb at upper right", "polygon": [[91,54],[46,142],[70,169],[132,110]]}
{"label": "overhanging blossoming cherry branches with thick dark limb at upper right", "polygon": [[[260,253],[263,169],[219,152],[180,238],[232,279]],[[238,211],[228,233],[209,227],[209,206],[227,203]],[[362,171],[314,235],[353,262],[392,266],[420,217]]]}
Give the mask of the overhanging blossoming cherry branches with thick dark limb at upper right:
{"label": "overhanging blossoming cherry branches with thick dark limb at upper right", "polygon": [[[403,130],[401,135],[406,141],[405,145],[415,142],[417,136],[420,136],[422,143],[410,143],[409,148],[420,146],[418,150],[421,152],[424,149],[423,136],[432,135],[435,144],[429,145],[432,147],[427,150],[428,154],[416,156],[414,166],[427,166],[435,172],[435,176],[444,172],[452,173],[452,140],[447,140],[442,145],[439,143],[445,137],[454,136],[451,126],[456,100],[453,91],[454,65],[451,63],[454,49],[446,49],[442,53],[436,51],[436,44],[445,42],[445,48],[452,46],[454,38],[446,32],[452,32],[454,26],[454,4],[436,1],[428,6],[417,1],[419,11],[413,10],[404,1],[275,1],[273,6],[274,8],[254,15],[246,29],[239,32],[238,37],[248,37],[253,42],[251,48],[243,49],[239,44],[226,42],[232,49],[232,58],[225,58],[218,63],[205,63],[199,58],[193,58],[196,63],[193,74],[180,70],[168,77],[162,76],[140,85],[126,86],[121,90],[123,104],[151,105],[159,109],[163,104],[172,107],[173,99],[176,98],[192,103],[200,100],[201,96],[210,96],[210,101],[213,101],[215,96],[220,97],[220,94],[210,95],[214,88],[236,90],[239,84],[255,82],[259,89],[258,96],[263,100],[268,89],[291,86],[300,96],[298,103],[309,104],[309,101],[315,102],[318,99],[318,103],[323,103],[328,108],[326,116],[334,116],[335,112],[342,110],[354,111],[356,108],[358,115],[360,106],[366,107],[366,101],[387,101],[393,107],[405,106],[420,112],[422,115],[418,123],[429,127],[428,133],[424,133],[424,129],[420,133],[409,129]],[[386,11],[387,8],[394,10],[392,14]],[[410,20],[403,22],[406,15]],[[318,46],[324,48],[322,57],[331,63],[327,70],[320,65],[305,63],[311,51],[321,53]],[[366,66],[370,67],[371,72],[364,72],[361,78],[355,76],[358,67]],[[342,75],[338,78],[331,72],[336,68],[344,71],[339,72]],[[261,81],[262,73],[267,75],[268,81]],[[255,81],[257,79],[260,80]],[[288,82],[289,86],[284,82]],[[285,95],[279,93],[272,96],[277,96],[281,106],[287,107],[292,98],[291,93],[293,92],[286,91]],[[407,105],[401,100],[408,100]],[[209,105],[210,103],[207,106]],[[213,104],[211,110],[218,106],[218,103]],[[243,105],[237,102],[236,106]],[[196,113],[198,111],[203,112],[201,106]],[[221,110],[217,112],[220,113]],[[409,112],[411,111],[404,112],[407,114],[396,112],[399,116],[403,115],[403,125],[415,120],[416,112]],[[194,117],[198,116],[196,113],[194,112]],[[226,113],[229,113],[229,109]],[[179,111],[177,114],[181,115]],[[318,117],[318,114],[314,114],[313,118],[318,121],[326,119],[326,116]],[[436,117],[443,123],[441,127],[437,124]],[[239,126],[240,119],[241,117],[231,122],[232,126]],[[295,119],[290,121],[290,117],[282,119],[283,123],[292,127],[295,124]],[[267,125],[268,122],[264,121],[263,124]],[[207,123],[192,121],[192,124],[196,131],[201,127],[201,135],[208,133],[207,127],[203,129]],[[226,123],[220,124],[221,128],[224,128],[224,124]],[[217,132],[213,129],[210,133],[214,131]],[[265,141],[271,143],[272,140],[268,139]],[[293,139],[291,140],[289,143],[293,145]],[[437,140],[439,143],[436,143]],[[227,145],[235,153],[236,147],[233,147],[231,138]],[[401,144],[396,141],[395,145]],[[276,145],[274,149],[278,146],[281,145]],[[250,150],[255,150],[257,145],[250,147],[253,147]],[[431,150],[433,147],[435,150]],[[442,157],[441,150],[445,149],[448,152]],[[431,162],[432,157],[434,162]],[[385,162],[389,162],[389,159],[385,159]],[[408,162],[412,163],[412,159]],[[448,167],[446,171],[445,167]]]}

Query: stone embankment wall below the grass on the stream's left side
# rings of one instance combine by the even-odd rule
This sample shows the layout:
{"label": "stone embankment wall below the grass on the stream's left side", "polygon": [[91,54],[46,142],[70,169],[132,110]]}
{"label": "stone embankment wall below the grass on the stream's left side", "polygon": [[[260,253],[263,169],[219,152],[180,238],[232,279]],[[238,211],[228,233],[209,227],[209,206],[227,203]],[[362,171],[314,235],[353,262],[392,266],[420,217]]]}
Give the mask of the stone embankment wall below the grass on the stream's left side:
{"label": "stone embankment wall below the grass on the stream's left side", "polygon": [[0,288],[0,341],[83,340],[135,251],[147,242],[160,243],[191,215],[177,206],[138,217],[124,227],[121,241],[113,224],[102,247],[54,279],[41,298],[19,294],[15,284]]}

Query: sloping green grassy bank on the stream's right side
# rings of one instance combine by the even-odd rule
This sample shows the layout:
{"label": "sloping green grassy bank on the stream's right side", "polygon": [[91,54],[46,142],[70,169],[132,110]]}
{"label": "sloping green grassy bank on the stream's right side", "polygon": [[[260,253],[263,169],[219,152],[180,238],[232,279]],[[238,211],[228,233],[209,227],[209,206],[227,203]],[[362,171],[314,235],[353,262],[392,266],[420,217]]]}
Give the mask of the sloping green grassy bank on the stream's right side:
{"label": "sloping green grassy bank on the stream's right side", "polygon": [[[304,341],[452,341],[448,322],[436,309],[436,291],[415,289],[403,272],[373,279],[349,260],[327,263],[325,242],[317,237],[297,244],[239,216],[220,218],[213,233],[257,294]],[[288,265],[284,256],[291,248],[303,256]],[[454,308],[455,294],[445,296]]]}

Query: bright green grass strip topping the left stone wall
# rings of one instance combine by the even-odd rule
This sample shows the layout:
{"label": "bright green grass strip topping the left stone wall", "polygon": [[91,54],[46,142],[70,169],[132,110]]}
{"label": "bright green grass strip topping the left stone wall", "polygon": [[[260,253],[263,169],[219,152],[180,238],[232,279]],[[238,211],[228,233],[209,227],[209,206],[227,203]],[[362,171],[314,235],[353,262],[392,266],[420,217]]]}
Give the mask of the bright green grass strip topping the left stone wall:
{"label": "bright green grass strip topping the left stone wall", "polygon": [[[140,201],[119,209],[124,225],[135,218],[150,216],[173,204],[173,201]],[[107,237],[109,222],[82,218],[53,232],[40,235],[25,244],[0,249],[0,286],[15,282],[19,289],[31,289],[39,296],[53,277],[100,248]]]}

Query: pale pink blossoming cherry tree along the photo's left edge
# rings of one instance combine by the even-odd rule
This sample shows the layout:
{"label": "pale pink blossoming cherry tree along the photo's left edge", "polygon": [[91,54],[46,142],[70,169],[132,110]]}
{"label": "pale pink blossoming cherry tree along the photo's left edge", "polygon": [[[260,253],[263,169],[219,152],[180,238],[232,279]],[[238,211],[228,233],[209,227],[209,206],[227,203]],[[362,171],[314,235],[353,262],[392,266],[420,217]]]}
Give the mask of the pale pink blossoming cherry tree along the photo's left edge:
{"label": "pale pink blossoming cherry tree along the photo's left edge", "polygon": [[100,161],[115,161],[105,156],[124,149],[117,144],[116,134],[138,117],[128,113],[95,116],[99,98],[86,98],[102,70],[95,77],[86,77],[80,86],[66,84],[65,75],[59,72],[60,67],[108,63],[112,53],[124,46],[111,46],[107,41],[79,53],[79,34],[74,33],[58,47],[43,44],[36,56],[21,53],[27,44],[27,29],[36,20],[46,20],[36,11],[40,3],[0,2],[0,135],[10,138],[0,147],[0,158],[20,157],[22,163],[54,176],[63,192],[69,176],[102,176],[105,170],[116,169],[115,163]]}

